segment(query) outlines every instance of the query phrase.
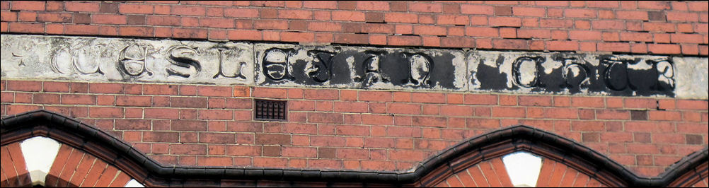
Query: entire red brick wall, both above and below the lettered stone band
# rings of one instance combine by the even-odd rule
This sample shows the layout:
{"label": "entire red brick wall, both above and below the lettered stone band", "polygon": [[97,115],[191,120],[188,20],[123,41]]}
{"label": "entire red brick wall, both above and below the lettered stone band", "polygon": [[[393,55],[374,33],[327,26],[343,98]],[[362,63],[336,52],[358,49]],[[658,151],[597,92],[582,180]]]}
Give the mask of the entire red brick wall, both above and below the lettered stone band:
{"label": "entire red brick wall, both above and below the lettered stone band", "polygon": [[[1,33],[708,55],[706,1],[2,1]],[[383,24],[386,22],[386,24]],[[164,165],[407,170],[526,124],[656,176],[708,145],[708,102],[4,79],[1,115],[48,109]],[[289,121],[252,120],[288,99]]]}

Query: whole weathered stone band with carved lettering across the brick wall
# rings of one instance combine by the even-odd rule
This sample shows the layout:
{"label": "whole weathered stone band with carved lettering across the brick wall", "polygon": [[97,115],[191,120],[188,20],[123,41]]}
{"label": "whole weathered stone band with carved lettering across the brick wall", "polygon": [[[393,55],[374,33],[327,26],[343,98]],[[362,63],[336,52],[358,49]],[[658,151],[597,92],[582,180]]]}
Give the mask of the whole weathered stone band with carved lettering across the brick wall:
{"label": "whole weathered stone band with carved lettering across the brick wall", "polygon": [[708,98],[708,58],[1,35],[3,79]]}

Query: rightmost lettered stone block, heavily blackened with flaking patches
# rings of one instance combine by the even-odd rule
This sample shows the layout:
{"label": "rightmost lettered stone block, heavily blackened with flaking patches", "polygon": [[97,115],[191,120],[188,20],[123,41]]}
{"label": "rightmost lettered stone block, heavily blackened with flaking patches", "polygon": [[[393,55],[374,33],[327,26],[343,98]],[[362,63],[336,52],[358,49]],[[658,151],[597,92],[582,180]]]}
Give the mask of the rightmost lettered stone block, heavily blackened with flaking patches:
{"label": "rightmost lettered stone block, heavily blackened with flaking patches", "polygon": [[[468,53],[470,91],[674,96],[678,82],[695,82],[688,79],[676,80],[673,62],[678,58],[657,55],[471,51]],[[697,72],[696,76],[700,74]]]}

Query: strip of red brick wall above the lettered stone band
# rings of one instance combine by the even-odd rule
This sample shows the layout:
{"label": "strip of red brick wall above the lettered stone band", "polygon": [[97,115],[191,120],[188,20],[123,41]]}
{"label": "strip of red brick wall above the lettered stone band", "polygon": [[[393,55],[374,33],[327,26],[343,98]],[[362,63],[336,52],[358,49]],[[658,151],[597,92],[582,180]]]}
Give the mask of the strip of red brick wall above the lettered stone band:
{"label": "strip of red brick wall above the lettered stone band", "polygon": [[708,55],[707,6],[706,1],[3,1],[0,31]]}

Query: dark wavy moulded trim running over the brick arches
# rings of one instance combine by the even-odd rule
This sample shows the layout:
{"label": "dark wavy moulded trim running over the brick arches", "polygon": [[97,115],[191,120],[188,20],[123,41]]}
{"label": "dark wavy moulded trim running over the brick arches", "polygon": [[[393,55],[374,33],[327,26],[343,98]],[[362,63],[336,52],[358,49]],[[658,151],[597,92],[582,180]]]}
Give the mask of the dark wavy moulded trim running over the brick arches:
{"label": "dark wavy moulded trim running over the brick arches", "polygon": [[[530,126],[511,126],[471,138],[443,150],[420,163],[413,172],[325,171],[233,167],[164,167],[140,153],[130,144],[93,126],[55,112],[38,110],[3,118],[0,145],[16,143],[34,136],[53,138],[116,165],[148,187],[219,186],[223,181],[306,181],[364,182],[432,186],[483,160],[515,151],[528,151],[564,163],[611,187],[691,186],[707,178],[708,148],[684,157],[658,177],[638,177],[610,158],[575,143]],[[291,182],[292,184],[292,182]]]}

